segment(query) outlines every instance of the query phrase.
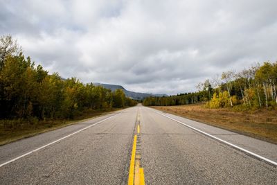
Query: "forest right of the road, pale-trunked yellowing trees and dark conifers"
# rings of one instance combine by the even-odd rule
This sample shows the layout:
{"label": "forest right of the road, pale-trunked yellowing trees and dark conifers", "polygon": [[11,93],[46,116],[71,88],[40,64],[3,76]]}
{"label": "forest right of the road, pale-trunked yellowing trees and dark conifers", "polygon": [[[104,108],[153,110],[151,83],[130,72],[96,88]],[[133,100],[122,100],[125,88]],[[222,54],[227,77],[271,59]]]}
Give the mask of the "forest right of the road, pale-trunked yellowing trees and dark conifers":
{"label": "forest right of the road, pale-trunked yellowing trees and dark conifers", "polygon": [[264,62],[255,67],[223,72],[212,80],[200,82],[197,92],[168,97],[149,97],[147,106],[188,105],[206,103],[209,108],[240,107],[259,109],[277,107],[277,62]]}

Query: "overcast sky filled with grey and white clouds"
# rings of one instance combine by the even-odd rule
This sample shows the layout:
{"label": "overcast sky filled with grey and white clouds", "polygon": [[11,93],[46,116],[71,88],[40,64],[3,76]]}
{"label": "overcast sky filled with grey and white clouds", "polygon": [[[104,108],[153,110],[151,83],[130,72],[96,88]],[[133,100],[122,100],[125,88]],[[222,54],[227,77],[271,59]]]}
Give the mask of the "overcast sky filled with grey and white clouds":
{"label": "overcast sky filled with grey and white clouds", "polygon": [[180,94],[277,60],[276,0],[0,0],[0,35],[63,78]]}

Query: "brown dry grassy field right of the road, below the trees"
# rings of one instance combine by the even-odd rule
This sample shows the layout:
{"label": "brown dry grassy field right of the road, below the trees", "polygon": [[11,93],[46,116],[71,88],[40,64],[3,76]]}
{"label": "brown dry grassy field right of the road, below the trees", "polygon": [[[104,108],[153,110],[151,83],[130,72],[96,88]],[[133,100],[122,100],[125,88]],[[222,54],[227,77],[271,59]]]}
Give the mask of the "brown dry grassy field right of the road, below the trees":
{"label": "brown dry grassy field right of the road, below the trees", "polygon": [[209,109],[203,104],[152,108],[277,144],[277,111],[274,109],[238,112],[231,108]]}

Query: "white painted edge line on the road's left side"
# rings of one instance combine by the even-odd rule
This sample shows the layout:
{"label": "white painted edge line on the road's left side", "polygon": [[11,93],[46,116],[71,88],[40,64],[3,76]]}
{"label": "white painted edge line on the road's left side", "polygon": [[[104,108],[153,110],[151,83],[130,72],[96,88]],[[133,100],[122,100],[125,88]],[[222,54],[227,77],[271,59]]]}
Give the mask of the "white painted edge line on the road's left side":
{"label": "white painted edge line on the road's left side", "polygon": [[[120,114],[120,113],[121,113],[121,112],[119,112],[118,114]],[[114,115],[114,116],[117,116],[118,114],[116,114],[116,115]],[[98,125],[99,123],[102,123],[102,122],[104,122],[104,121],[107,121],[109,118],[113,118],[114,116],[110,116],[110,117],[108,117],[108,118],[105,118],[105,119],[103,119],[103,120],[101,120],[101,121],[98,121],[97,123],[94,123],[94,124],[92,124],[92,125],[89,125],[89,126],[87,126],[87,127],[84,127],[84,128],[82,128],[81,130],[78,130],[78,131],[76,131],[76,132],[73,132],[73,133],[71,133],[71,134],[69,134],[69,135],[67,135],[67,136],[64,136],[64,137],[62,137],[62,138],[60,138],[60,139],[57,139],[57,140],[55,140],[55,141],[53,141],[53,142],[51,142],[51,143],[48,143],[48,144],[46,144],[46,145],[44,145],[44,146],[41,146],[41,147],[39,147],[39,148],[36,148],[35,150],[32,150],[32,151],[30,151],[30,152],[27,152],[27,153],[25,153],[24,155],[21,155],[21,156],[19,156],[19,157],[16,157],[16,158],[14,158],[14,159],[11,159],[10,161],[6,161],[5,163],[0,164],[0,168],[1,168],[2,166],[5,166],[6,164],[10,164],[11,162],[16,161],[17,159],[20,159],[20,158],[22,158],[22,157],[25,157],[26,155],[30,155],[30,154],[32,154],[33,152],[37,152],[38,150],[41,150],[42,148],[46,148],[47,146],[51,146],[53,143],[57,143],[57,142],[61,141],[62,139],[66,139],[66,138],[68,138],[69,136],[72,136],[72,135],[74,135],[74,134],[77,134],[78,132],[82,132],[83,130],[88,129],[89,127],[92,127],[92,126],[94,126],[94,125]]]}

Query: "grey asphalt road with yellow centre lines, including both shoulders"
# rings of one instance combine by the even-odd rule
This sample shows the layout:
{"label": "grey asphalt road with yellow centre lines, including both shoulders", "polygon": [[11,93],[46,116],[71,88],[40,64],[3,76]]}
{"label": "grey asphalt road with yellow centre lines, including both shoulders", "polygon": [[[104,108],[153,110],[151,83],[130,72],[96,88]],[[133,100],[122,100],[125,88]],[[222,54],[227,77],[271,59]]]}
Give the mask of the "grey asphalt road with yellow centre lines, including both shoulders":
{"label": "grey asphalt road with yellow centre lines, including both shoulders", "polygon": [[274,144],[138,105],[1,146],[0,184],[277,184],[276,162]]}

